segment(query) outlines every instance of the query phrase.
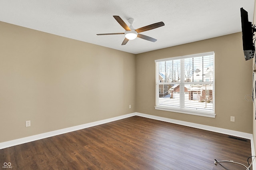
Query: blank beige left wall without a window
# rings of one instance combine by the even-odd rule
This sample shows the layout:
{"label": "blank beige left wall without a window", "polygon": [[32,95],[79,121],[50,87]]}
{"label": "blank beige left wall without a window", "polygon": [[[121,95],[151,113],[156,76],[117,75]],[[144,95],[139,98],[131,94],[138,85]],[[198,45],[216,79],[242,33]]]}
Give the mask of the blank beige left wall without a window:
{"label": "blank beige left wall without a window", "polygon": [[0,28],[0,142],[135,112],[134,54]]}

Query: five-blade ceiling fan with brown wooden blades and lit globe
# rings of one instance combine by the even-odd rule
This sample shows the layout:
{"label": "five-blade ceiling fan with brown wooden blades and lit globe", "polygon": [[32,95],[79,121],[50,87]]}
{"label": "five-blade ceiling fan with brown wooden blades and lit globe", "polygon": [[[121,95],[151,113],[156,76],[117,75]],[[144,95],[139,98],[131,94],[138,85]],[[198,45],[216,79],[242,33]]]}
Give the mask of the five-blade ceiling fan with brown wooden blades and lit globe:
{"label": "five-blade ceiling fan with brown wooden blades and lit globe", "polygon": [[148,31],[148,30],[153,30],[155,28],[164,26],[164,22],[157,22],[155,24],[151,24],[148,26],[144,26],[141,28],[138,28],[136,30],[134,30],[132,24],[134,22],[133,18],[129,18],[128,22],[130,24],[130,27],[128,27],[125,22],[120,18],[120,16],[113,16],[116,21],[124,28],[124,32],[122,33],[106,33],[106,34],[96,34],[98,36],[103,36],[103,35],[116,35],[116,34],[124,34],[125,38],[124,41],[122,42],[122,45],[125,45],[129,40],[134,40],[136,37],[138,38],[142,38],[144,40],[148,40],[150,42],[156,42],[156,39],[149,37],[149,36],[145,36],[143,34],[139,34],[140,32],[144,32],[144,31]]}

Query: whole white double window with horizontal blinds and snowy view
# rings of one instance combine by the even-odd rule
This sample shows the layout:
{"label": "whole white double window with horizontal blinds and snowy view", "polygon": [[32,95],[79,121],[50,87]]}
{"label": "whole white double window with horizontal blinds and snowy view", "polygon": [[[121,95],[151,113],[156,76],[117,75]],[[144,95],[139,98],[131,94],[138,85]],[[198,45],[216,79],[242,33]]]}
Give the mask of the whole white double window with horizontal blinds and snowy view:
{"label": "whole white double window with horizontal blinds and snowy view", "polygon": [[155,62],[156,109],[215,117],[214,52]]}

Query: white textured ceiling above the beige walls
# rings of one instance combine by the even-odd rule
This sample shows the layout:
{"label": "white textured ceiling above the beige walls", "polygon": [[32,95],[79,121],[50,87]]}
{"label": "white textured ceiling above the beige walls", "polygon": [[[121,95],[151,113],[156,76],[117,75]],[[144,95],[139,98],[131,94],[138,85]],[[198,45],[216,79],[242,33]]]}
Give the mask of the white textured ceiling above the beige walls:
{"label": "white textured ceiling above the beige walls", "polygon": [[[240,8],[253,20],[254,0],[0,0],[0,21],[126,51],[142,53],[241,31]],[[142,32],[121,45],[124,32],[113,15],[134,18],[135,29],[156,22],[165,26]],[[0,28],[1,31],[1,28]]]}

